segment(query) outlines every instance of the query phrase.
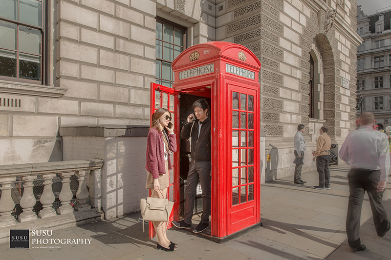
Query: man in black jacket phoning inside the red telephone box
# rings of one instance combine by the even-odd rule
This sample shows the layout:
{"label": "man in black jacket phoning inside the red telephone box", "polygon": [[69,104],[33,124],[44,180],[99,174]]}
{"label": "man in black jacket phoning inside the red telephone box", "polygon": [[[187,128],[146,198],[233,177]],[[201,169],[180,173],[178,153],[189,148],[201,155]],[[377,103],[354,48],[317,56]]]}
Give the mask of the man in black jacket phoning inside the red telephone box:
{"label": "man in black jacket phoning inside the red telephone box", "polygon": [[208,117],[209,104],[204,99],[193,103],[194,114],[187,117],[180,132],[180,138],[191,140],[191,161],[187,175],[185,216],[173,221],[178,228],[192,228],[193,208],[198,180],[201,182],[203,208],[201,221],[193,232],[199,233],[209,227],[211,215],[211,120]]}

